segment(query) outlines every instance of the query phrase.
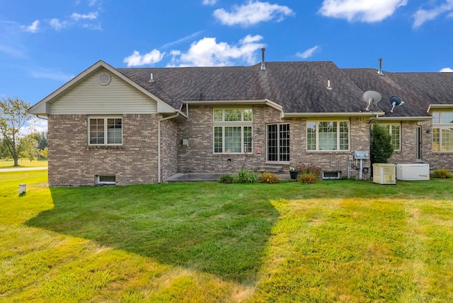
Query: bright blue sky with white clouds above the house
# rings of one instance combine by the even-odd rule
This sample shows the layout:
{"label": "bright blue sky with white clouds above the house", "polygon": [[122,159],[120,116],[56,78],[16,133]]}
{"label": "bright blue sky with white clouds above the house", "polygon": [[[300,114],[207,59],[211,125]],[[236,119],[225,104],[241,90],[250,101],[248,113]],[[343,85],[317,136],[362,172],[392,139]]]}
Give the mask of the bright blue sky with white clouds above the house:
{"label": "bright blue sky with white clouds above the house", "polygon": [[0,97],[33,105],[99,59],[252,65],[261,47],[266,61],[453,72],[453,0],[0,0]]}

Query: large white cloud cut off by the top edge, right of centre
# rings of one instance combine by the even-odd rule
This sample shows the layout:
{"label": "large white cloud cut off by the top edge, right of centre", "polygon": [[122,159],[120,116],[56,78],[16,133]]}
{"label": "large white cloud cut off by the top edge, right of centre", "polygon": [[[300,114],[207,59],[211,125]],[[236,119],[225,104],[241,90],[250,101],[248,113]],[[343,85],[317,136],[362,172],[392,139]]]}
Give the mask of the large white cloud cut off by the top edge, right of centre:
{"label": "large white cloud cut off by the top edge, right of centre", "polygon": [[350,22],[379,22],[393,15],[408,0],[324,0],[319,13],[326,17],[343,18]]}

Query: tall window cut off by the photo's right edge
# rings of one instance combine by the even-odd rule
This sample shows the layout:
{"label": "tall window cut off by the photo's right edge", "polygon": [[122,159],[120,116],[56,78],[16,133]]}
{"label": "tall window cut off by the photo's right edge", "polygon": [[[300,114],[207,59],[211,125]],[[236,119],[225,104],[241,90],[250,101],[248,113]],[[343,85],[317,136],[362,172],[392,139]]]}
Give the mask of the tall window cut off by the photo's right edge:
{"label": "tall window cut off by the photo's right edge", "polygon": [[432,151],[453,151],[453,112],[432,113]]}

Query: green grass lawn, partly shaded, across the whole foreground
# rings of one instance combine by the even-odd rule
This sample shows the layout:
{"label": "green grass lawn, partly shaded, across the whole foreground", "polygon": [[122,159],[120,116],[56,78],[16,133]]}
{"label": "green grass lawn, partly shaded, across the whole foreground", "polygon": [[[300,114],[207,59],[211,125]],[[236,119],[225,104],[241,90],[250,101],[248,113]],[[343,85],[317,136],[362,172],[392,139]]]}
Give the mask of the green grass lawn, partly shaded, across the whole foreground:
{"label": "green grass lawn, partly shaded, across the whole foreground", "polygon": [[453,302],[452,179],[46,182],[0,173],[0,301]]}

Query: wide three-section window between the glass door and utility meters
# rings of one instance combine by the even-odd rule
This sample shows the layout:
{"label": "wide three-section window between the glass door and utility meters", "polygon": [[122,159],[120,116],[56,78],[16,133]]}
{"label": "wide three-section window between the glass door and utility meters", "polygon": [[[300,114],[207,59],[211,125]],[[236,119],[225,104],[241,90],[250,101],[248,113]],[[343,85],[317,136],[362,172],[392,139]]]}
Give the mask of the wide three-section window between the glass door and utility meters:
{"label": "wide three-section window between the glass door and utility meters", "polygon": [[306,122],[306,150],[308,151],[348,151],[348,121],[308,121]]}

